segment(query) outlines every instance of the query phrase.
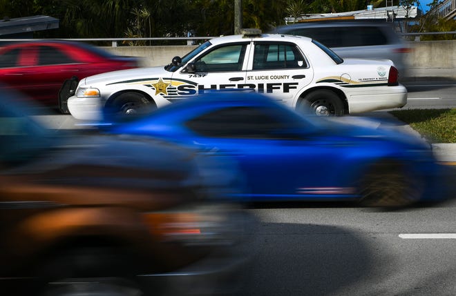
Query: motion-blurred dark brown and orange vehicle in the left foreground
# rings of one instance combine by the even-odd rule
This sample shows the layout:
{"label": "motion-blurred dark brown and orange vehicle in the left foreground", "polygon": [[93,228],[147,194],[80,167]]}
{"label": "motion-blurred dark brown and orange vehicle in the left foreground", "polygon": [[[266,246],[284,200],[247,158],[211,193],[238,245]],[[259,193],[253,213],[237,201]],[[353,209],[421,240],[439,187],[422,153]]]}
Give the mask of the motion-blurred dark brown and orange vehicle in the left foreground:
{"label": "motion-blurred dark brown and orange vehicle in the left foreground", "polygon": [[243,214],[223,201],[226,161],[149,137],[57,137],[14,100],[0,95],[2,295],[235,285]]}

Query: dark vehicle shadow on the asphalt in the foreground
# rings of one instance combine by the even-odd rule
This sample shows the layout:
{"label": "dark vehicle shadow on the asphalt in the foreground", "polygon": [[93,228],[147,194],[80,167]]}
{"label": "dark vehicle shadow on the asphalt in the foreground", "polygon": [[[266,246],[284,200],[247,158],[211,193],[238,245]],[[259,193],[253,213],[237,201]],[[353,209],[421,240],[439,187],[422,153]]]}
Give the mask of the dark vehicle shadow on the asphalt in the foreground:
{"label": "dark vehicle shadow on the asphalt in the foreground", "polygon": [[253,265],[238,296],[338,295],[357,282],[388,277],[389,255],[370,253],[380,248],[345,228],[258,222],[252,235]]}

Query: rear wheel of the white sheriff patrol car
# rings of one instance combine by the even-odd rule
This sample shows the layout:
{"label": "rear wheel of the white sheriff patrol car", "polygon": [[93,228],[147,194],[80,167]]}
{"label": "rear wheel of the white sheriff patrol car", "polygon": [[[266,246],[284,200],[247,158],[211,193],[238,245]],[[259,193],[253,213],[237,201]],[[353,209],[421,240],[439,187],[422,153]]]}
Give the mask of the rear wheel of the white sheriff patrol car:
{"label": "rear wheel of the white sheriff patrol car", "polygon": [[343,103],[331,90],[315,90],[301,101],[300,109],[317,116],[342,116]]}

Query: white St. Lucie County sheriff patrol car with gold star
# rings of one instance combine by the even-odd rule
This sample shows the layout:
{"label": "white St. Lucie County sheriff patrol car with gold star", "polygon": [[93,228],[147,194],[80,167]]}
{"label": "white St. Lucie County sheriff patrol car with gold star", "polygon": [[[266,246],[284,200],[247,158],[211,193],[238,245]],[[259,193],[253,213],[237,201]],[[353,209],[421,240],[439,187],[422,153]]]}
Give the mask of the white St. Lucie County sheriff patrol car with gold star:
{"label": "white St. Lucie County sheriff patrol car with gold star", "polygon": [[254,90],[325,116],[407,102],[390,60],[341,59],[314,39],[250,30],[206,41],[168,66],[86,77],[68,99],[68,110],[76,119],[102,119],[104,112],[150,112],[222,89]]}

